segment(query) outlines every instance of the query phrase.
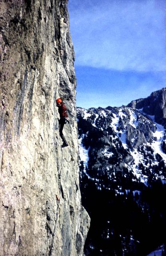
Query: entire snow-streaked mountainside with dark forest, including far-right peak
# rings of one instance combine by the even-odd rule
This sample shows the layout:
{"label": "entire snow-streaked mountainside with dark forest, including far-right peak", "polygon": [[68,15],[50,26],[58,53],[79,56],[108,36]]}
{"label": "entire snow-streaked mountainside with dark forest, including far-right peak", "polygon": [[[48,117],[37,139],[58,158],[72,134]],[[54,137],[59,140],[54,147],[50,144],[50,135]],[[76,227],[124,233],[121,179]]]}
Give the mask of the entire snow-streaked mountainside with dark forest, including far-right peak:
{"label": "entire snow-streaked mountainside with dark forest, including far-right peak", "polygon": [[128,106],[77,109],[80,186],[91,217],[85,255],[146,256],[166,242],[165,106],[163,88]]}

